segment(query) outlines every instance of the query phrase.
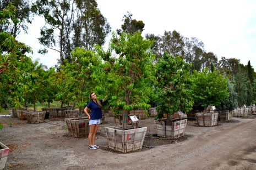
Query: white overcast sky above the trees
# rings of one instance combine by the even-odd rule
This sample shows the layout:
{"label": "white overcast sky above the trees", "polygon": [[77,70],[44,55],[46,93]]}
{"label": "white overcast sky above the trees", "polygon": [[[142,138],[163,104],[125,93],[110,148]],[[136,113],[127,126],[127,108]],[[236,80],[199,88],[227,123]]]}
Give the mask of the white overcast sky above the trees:
{"label": "white overcast sky above the trees", "polygon": [[[213,52],[220,60],[236,58],[250,64],[256,71],[256,1],[254,0],[96,0],[102,15],[112,27],[121,28],[123,16],[130,12],[132,19],[141,20],[146,33],[163,35],[165,31],[178,31],[184,37],[197,37],[206,52]],[[33,60],[48,67],[57,64],[59,54],[49,50],[40,55],[37,41],[43,19],[35,18],[29,35],[19,36],[34,50]],[[108,42],[107,42],[108,43]]]}

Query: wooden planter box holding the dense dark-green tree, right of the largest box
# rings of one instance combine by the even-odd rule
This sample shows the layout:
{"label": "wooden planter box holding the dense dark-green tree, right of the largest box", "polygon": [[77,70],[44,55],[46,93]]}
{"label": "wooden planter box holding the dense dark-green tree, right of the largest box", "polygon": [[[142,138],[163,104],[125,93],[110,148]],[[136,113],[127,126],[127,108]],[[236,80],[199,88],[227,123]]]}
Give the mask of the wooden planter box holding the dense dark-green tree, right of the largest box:
{"label": "wooden planter box holding the dense dark-green tree, right of the largest box", "polygon": [[187,119],[178,120],[163,118],[161,120],[156,120],[156,133],[159,137],[178,139],[184,135],[186,125]]}

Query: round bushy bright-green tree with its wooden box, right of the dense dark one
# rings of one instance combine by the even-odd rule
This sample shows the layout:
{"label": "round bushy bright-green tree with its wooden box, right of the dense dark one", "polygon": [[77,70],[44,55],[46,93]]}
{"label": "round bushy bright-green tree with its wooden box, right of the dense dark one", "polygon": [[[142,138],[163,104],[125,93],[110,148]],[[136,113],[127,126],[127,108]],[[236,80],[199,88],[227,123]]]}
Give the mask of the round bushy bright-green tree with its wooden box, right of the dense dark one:
{"label": "round bushy bright-green tree with its wooden box, right of the dense dark one", "polygon": [[214,111],[214,107],[208,106],[220,106],[221,100],[228,98],[227,78],[223,77],[215,68],[209,70],[208,67],[200,73],[194,71],[193,77],[195,82],[194,103],[204,107],[204,111],[196,113],[195,118],[199,126],[215,126],[219,113]]}

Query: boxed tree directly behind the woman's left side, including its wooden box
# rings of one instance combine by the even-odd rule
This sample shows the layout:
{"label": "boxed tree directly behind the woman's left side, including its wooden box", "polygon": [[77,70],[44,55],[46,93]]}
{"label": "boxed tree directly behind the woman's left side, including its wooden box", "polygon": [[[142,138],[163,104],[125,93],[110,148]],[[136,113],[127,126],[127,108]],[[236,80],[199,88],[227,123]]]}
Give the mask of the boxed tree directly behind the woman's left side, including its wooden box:
{"label": "boxed tree directly behind the woman's left side, including its wooden box", "polygon": [[66,96],[68,99],[66,102],[73,102],[79,107],[78,117],[65,118],[68,134],[72,137],[88,137],[89,118],[84,115],[83,109],[89,101],[89,94],[93,87],[99,87],[97,86],[99,78],[95,76],[95,81],[91,81],[91,77],[97,75],[95,72],[101,68],[101,60],[97,58],[94,52],[84,48],[75,48],[71,54],[74,62],[69,63],[67,61],[66,65],[63,66],[65,72],[63,75],[67,77],[65,78],[66,81],[62,81],[62,84],[65,84],[64,87],[66,88],[59,91],[57,97],[63,100],[62,97]]}

